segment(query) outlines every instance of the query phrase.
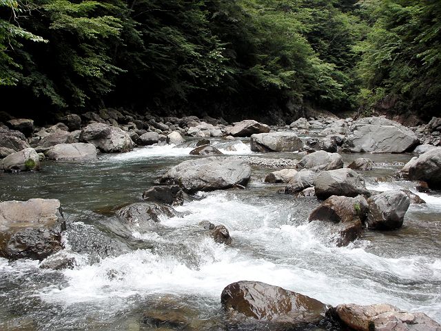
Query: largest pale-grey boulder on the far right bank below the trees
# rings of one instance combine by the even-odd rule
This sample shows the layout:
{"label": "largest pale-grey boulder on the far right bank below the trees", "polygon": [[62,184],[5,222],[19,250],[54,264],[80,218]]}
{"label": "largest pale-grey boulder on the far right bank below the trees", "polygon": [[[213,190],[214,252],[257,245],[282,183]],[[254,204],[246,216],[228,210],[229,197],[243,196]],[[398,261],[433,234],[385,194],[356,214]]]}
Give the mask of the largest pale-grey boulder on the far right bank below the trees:
{"label": "largest pale-grey boulder on the far right bank below the trees", "polygon": [[352,152],[402,153],[418,145],[416,134],[400,123],[367,117],[353,124],[345,147]]}

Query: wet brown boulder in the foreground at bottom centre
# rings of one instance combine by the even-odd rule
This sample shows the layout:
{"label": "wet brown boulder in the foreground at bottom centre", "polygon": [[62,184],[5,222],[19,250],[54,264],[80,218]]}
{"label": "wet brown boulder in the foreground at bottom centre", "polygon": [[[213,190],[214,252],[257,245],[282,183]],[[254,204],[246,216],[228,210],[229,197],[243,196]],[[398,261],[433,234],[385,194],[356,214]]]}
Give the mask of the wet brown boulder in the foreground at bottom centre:
{"label": "wet brown boulder in the foreground at bottom centre", "polygon": [[233,318],[251,317],[291,327],[317,324],[327,310],[326,305],[316,299],[260,281],[229,284],[220,294],[220,302]]}

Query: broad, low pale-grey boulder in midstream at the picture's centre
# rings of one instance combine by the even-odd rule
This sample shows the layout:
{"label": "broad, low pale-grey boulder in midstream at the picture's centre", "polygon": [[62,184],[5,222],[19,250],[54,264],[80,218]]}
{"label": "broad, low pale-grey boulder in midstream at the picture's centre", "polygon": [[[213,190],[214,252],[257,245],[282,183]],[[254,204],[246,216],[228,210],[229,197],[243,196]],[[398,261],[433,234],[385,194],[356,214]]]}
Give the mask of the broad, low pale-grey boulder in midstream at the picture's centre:
{"label": "broad, low pale-grey boulder in midstream at the picture's centre", "polygon": [[185,192],[212,191],[247,185],[251,168],[233,157],[207,157],[175,165],[160,182],[180,185]]}

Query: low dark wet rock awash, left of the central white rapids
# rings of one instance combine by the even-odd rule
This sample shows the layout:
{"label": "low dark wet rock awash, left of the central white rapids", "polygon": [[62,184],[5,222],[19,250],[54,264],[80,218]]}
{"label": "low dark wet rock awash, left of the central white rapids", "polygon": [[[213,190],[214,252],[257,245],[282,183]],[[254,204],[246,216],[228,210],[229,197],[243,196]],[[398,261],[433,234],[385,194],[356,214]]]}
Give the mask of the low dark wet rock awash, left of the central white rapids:
{"label": "low dark wet rock awash, left of the central white rapids", "polygon": [[118,217],[129,230],[147,232],[163,228],[161,217],[174,217],[176,212],[168,205],[155,202],[132,203],[118,211]]}

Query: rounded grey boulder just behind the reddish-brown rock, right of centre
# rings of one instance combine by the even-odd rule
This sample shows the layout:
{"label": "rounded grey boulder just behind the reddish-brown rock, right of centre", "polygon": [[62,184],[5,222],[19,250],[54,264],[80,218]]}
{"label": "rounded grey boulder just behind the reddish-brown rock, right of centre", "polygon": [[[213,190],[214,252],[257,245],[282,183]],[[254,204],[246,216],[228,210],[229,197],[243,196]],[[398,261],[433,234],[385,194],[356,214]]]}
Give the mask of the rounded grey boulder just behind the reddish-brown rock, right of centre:
{"label": "rounded grey boulder just behind the reddish-brown rock, right of centre", "polygon": [[314,183],[316,196],[321,200],[331,195],[356,197],[359,194],[369,194],[362,175],[347,168],[319,172]]}

